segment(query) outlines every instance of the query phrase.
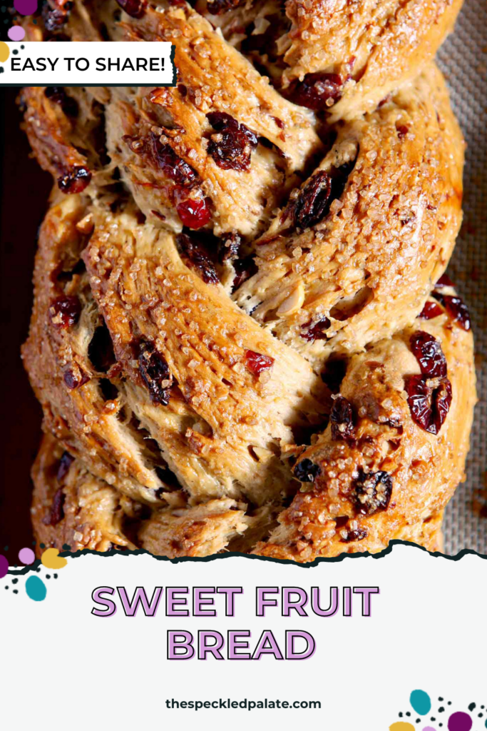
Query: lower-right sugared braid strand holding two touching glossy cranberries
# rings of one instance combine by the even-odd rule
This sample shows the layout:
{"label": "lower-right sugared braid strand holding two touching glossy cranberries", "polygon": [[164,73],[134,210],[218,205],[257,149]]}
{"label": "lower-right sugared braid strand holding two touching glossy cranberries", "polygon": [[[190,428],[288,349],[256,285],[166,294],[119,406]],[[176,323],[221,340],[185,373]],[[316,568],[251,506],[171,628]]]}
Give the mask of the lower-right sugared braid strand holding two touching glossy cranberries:
{"label": "lower-right sugared braid strand holding two touching glossy cranberries", "polygon": [[[408,376],[420,373],[411,349],[418,332],[440,342],[448,366],[453,398],[439,433],[415,423],[404,390]],[[314,468],[304,465],[317,476],[312,486],[303,485],[269,542],[255,553],[294,561],[344,551],[375,553],[391,539],[409,540],[464,480],[476,400],[473,342],[472,333],[447,314],[418,319],[353,356],[339,398],[351,407],[353,427],[343,420],[337,431],[332,414],[326,431],[302,452],[299,463],[311,461]]]}

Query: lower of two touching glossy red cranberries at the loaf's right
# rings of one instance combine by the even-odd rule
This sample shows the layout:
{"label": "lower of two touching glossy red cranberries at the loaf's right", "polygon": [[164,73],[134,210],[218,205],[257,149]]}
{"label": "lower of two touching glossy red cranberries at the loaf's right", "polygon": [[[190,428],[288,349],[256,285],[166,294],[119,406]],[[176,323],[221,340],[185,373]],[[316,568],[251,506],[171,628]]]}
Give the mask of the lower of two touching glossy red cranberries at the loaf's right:
{"label": "lower of two touching glossy red cranberries at the loaf's right", "polygon": [[413,421],[425,431],[437,434],[450,411],[450,381],[441,378],[435,383],[425,376],[408,376],[404,380]]}

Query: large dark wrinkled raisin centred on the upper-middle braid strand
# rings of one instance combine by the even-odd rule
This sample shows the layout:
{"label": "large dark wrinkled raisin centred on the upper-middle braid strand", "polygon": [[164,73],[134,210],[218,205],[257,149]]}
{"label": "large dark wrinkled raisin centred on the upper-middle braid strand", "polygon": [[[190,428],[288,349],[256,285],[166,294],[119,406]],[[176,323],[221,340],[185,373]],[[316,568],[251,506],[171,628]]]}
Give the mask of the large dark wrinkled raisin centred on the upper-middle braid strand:
{"label": "large dark wrinkled raisin centred on the upper-middle braid strand", "polygon": [[225,112],[210,112],[207,119],[217,133],[210,136],[208,154],[222,170],[247,172],[250,155],[258,143],[255,132]]}

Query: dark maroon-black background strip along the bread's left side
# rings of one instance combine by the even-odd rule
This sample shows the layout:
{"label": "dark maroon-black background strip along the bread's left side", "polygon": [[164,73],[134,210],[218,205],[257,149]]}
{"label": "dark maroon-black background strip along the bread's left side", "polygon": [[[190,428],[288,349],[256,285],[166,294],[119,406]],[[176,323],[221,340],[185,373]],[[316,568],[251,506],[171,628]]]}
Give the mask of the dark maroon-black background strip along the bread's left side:
{"label": "dark maroon-black background strip along the bread's left side", "polygon": [[18,88],[0,98],[0,550],[13,558],[33,540],[31,465],[41,436],[41,409],[20,359],[33,299],[37,229],[47,208],[51,177],[29,156],[20,130]]}

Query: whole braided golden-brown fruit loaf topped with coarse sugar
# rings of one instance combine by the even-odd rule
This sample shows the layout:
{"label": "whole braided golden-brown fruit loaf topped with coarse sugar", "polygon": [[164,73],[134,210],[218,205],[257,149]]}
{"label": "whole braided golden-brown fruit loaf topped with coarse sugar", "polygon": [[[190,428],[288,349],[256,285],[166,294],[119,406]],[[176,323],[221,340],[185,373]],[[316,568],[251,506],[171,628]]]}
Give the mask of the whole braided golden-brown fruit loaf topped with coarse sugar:
{"label": "whole braided golden-brown fruit loaf topped with coarse sugar", "polygon": [[20,95],[55,178],[23,348],[39,542],[441,548],[475,404],[444,276],[463,140],[429,61],[459,3],[336,5],[58,2],[28,25],[172,40],[178,71]]}

